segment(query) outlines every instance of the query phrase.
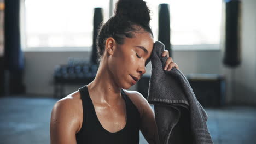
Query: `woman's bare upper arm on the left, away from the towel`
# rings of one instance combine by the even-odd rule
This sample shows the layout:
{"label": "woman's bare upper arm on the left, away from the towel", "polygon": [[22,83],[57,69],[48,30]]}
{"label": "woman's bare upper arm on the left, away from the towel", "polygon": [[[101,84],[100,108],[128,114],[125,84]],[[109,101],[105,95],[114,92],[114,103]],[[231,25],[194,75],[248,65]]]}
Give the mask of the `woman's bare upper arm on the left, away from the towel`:
{"label": "woman's bare upper arm on the left, away from the towel", "polygon": [[76,143],[75,134],[79,119],[71,99],[57,101],[51,111],[50,139],[55,143]]}

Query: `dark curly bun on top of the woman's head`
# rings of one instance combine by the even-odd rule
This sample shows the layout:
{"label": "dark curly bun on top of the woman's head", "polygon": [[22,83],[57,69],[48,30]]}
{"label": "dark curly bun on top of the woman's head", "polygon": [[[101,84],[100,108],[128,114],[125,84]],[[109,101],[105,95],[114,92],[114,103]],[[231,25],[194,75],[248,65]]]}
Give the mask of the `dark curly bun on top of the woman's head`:
{"label": "dark curly bun on top of the woman's head", "polygon": [[149,25],[150,10],[143,0],[119,0],[115,8],[116,17]]}

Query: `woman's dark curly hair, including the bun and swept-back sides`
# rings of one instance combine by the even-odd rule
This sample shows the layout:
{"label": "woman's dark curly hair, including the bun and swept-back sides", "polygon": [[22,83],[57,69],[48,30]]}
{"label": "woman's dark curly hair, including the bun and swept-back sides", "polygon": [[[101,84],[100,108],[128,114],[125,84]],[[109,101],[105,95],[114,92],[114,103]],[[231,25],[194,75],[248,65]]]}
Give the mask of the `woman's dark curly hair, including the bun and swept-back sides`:
{"label": "woman's dark curly hair, including the bun and swept-back sides", "polygon": [[124,43],[124,38],[133,38],[133,32],[144,31],[152,34],[149,25],[150,10],[143,0],[119,0],[115,6],[115,15],[101,26],[97,35],[98,63],[105,50],[106,39],[112,37],[118,44]]}

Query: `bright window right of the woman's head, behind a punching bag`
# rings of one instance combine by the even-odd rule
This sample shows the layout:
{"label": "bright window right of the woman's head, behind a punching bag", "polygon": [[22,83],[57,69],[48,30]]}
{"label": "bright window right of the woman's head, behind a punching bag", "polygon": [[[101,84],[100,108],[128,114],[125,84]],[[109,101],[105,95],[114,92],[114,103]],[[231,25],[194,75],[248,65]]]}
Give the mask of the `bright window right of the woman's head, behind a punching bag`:
{"label": "bright window right of the woman's head, behind a punching bag", "polygon": [[[221,0],[146,0],[152,10],[151,26],[158,37],[158,5],[167,3],[170,10],[171,44],[218,45],[222,15]],[[178,46],[181,49],[181,46]]]}

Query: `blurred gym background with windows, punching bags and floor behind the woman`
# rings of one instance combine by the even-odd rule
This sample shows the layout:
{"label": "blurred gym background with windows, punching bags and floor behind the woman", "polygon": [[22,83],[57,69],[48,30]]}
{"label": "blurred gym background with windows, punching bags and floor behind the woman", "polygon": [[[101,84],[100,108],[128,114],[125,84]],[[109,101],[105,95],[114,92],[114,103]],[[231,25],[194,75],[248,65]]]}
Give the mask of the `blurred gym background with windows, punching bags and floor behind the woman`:
{"label": "blurred gym background with windows, punching bags and floor behind the woman", "polygon": [[[0,0],[0,143],[50,143],[54,103],[97,73],[96,33],[115,2]],[[146,2],[214,143],[256,143],[256,1]],[[130,88],[145,98],[150,69]]]}

